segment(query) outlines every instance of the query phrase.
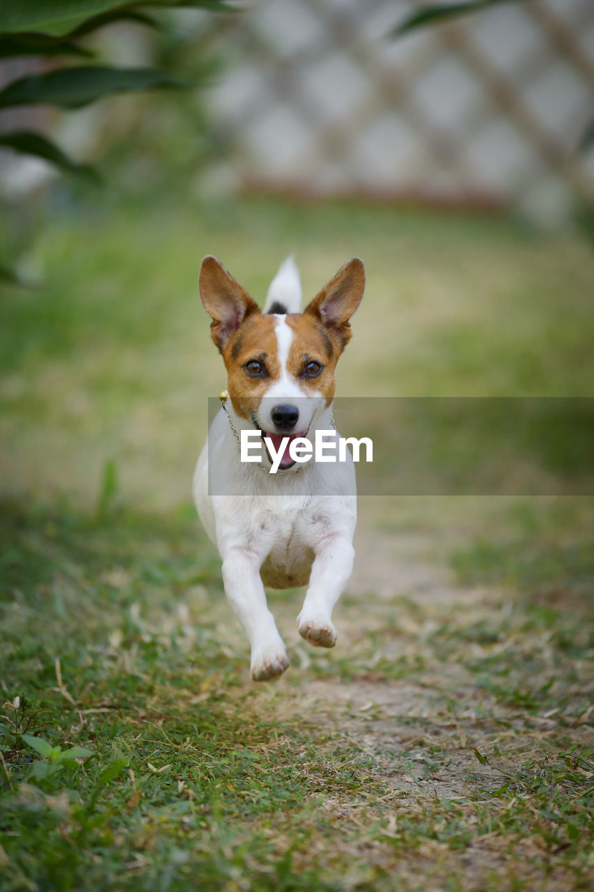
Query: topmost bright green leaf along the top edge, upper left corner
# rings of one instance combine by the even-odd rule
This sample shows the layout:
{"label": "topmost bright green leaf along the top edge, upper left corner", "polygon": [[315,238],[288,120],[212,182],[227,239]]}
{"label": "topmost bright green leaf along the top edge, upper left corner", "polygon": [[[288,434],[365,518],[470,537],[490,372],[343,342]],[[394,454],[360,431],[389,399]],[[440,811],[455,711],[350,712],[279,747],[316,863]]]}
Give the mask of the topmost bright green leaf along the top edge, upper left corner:
{"label": "topmost bright green leaf along the top edge, upper left corner", "polygon": [[0,0],[0,32],[43,31],[54,37],[68,34],[87,19],[114,10],[136,11],[142,6],[192,6],[223,12],[229,10],[222,0]]}

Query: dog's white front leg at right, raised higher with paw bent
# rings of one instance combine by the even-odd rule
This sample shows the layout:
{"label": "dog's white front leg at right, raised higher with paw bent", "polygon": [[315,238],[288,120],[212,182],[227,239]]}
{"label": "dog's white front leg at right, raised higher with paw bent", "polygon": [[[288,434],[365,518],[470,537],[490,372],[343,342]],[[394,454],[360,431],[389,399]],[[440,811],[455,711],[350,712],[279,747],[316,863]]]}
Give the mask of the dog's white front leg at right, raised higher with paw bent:
{"label": "dog's white front leg at right, raised higher with paw bent", "polygon": [[309,587],[297,617],[301,638],[318,648],[334,648],[338,632],[332,622],[332,608],[351,579],[355,551],[342,534],[327,536],[316,549]]}

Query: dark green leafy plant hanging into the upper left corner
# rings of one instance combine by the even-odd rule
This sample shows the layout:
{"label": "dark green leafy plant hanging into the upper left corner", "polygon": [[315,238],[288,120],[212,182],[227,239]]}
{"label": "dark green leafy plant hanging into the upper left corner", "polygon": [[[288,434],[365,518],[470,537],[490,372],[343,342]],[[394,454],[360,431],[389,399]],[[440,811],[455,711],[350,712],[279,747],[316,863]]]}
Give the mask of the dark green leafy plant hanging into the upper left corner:
{"label": "dark green leafy plant hanging into the upper left corner", "polygon": [[[70,157],[47,133],[1,126],[2,112],[23,106],[70,111],[113,95],[179,89],[199,82],[205,76],[203,63],[197,66],[194,62],[185,77],[172,73],[179,68],[182,54],[175,47],[180,39],[170,28],[167,16],[155,15],[180,7],[218,12],[229,9],[223,0],[0,0],[0,61],[22,56],[38,60],[31,73],[12,79],[0,89],[0,149],[41,158],[64,174],[95,185],[101,183],[103,178],[95,167]],[[121,22],[169,35],[170,51],[161,58],[159,67],[121,68],[101,63],[87,38]],[[197,55],[202,57],[200,52]],[[194,125],[199,131],[201,126],[202,120]],[[0,282],[23,285],[20,273],[8,260],[15,251],[18,249],[12,237],[2,250]]]}

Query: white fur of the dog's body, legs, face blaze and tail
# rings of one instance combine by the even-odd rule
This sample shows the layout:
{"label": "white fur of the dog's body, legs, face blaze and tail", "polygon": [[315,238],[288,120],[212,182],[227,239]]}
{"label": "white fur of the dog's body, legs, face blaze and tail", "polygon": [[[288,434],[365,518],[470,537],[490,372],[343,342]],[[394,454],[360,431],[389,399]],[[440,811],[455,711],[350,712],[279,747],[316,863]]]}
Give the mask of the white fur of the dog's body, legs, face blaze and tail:
{"label": "white fur of the dog's body, legs, face blaze and tail", "polygon": [[[283,273],[280,281],[292,282],[294,288],[290,262],[291,268],[285,260],[272,285]],[[290,290],[285,287],[283,296],[275,291],[273,300],[286,302]],[[301,299],[301,288],[299,295]],[[309,427],[311,438],[316,429],[332,426],[332,408],[326,407],[323,394],[305,397],[299,381],[289,375],[286,363],[293,330],[284,316],[277,317],[276,339],[282,375],[260,401],[255,420],[260,429],[269,430],[273,426],[268,424],[270,409],[279,399],[289,399],[300,409],[296,429]],[[253,425],[235,414],[230,400],[227,412],[228,417],[221,409],[215,417],[209,442],[198,459],[194,501],[206,532],[219,548],[227,597],[250,640],[252,678],[264,680],[280,675],[289,665],[285,644],[268,610],[265,583],[273,588],[307,584],[297,618],[301,637],[322,647],[336,643],[332,609],[351,577],[354,557],[355,468],[351,453],[343,463],[310,461],[276,475],[265,473],[267,458],[262,461],[265,470],[242,463],[231,425],[235,431],[253,430]]]}

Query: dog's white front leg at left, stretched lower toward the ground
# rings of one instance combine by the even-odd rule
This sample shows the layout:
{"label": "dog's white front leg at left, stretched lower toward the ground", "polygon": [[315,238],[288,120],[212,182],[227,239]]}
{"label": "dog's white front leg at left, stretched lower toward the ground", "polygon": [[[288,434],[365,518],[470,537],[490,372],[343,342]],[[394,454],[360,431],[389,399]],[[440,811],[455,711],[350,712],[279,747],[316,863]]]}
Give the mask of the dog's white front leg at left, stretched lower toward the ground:
{"label": "dog's white front leg at left, stretched lower toward the ground", "polygon": [[260,558],[246,549],[231,548],[223,556],[225,591],[250,640],[254,681],[276,678],[289,665],[285,644],[266,603],[260,563]]}

